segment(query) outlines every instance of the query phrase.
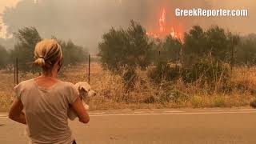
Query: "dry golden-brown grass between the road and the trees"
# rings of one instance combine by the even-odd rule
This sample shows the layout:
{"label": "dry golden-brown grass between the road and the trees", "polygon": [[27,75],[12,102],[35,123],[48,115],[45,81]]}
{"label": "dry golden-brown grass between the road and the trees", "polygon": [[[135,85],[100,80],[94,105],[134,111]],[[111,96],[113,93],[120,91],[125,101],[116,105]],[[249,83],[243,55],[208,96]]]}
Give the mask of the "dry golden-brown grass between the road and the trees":
{"label": "dry golden-brown grass between the road and the trees", "polygon": [[[86,65],[64,68],[60,77],[68,82],[87,81]],[[176,82],[156,84],[146,76],[146,71],[137,70],[138,79],[132,90],[127,90],[122,78],[102,70],[98,63],[91,64],[90,85],[97,96],[90,99],[90,109],[138,109],[138,108],[174,108],[174,107],[222,107],[249,106],[255,98],[256,86],[255,68],[237,68],[233,71],[229,92],[209,93],[209,87],[198,86],[197,82]],[[26,80],[37,75],[27,74]],[[14,77],[5,71],[0,71],[0,110],[8,110],[14,98]]]}

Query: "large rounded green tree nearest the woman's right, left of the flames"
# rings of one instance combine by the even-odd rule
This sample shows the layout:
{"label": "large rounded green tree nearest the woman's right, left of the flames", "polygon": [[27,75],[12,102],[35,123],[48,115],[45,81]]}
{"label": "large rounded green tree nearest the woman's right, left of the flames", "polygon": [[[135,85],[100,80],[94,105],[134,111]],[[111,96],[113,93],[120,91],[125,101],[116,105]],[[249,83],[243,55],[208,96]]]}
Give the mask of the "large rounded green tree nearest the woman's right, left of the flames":
{"label": "large rounded green tree nearest the woman's right, left of the flames", "polygon": [[146,68],[150,65],[152,46],[146,30],[134,21],[130,21],[127,30],[112,27],[98,44],[102,66],[114,72],[126,66]]}

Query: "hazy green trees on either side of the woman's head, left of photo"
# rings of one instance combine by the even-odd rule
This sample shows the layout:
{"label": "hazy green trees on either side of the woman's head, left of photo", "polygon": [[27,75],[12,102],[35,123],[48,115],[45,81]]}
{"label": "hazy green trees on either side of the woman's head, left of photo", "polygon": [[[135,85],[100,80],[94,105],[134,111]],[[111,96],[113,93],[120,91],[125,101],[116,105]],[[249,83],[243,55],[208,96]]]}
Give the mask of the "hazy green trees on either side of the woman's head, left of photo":
{"label": "hazy green trees on either side of the woman's head, left of photo", "polygon": [[[17,40],[14,49],[7,50],[6,47],[0,44],[0,69],[10,68],[14,64],[15,58],[18,58],[19,70],[23,72],[37,72],[38,67],[33,65],[34,62],[34,47],[42,40],[38,30],[34,27],[24,27],[14,33],[14,38]],[[75,65],[79,62],[85,62],[88,57],[88,51],[74,44],[71,40],[64,41],[56,37],[52,37],[62,46],[63,65]]]}

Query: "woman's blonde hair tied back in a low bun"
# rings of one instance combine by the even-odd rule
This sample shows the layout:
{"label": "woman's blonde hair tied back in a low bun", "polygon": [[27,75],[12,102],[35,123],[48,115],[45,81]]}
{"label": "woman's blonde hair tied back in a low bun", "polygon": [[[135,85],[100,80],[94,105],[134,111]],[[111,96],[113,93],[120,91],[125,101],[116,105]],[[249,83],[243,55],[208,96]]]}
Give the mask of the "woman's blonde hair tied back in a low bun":
{"label": "woman's blonde hair tied back in a low bun", "polygon": [[43,69],[51,69],[62,58],[62,48],[54,39],[44,39],[34,48],[34,64]]}

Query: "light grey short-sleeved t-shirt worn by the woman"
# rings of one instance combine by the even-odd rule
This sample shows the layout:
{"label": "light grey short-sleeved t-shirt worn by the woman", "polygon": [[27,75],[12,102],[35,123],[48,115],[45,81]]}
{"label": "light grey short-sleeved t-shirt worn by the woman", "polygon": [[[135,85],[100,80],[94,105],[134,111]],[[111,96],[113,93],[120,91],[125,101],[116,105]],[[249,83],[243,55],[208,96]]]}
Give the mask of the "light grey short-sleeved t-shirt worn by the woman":
{"label": "light grey short-sleeved t-shirt worn by the woman", "polygon": [[78,90],[72,83],[58,81],[46,89],[33,78],[19,83],[14,91],[24,106],[32,143],[72,143],[67,110],[78,98]]}

